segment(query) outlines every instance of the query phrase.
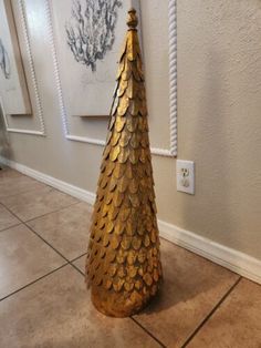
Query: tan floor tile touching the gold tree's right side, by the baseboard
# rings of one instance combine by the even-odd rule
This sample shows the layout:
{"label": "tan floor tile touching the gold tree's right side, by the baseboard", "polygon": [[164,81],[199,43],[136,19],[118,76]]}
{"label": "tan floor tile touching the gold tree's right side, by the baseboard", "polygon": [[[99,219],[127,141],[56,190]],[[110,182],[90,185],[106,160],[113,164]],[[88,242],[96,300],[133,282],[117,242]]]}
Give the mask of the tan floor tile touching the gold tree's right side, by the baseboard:
{"label": "tan floor tile touching the gold tree's right side, by the baseboard", "polygon": [[135,318],[167,347],[181,347],[239,277],[166,240],[161,259],[161,293]]}

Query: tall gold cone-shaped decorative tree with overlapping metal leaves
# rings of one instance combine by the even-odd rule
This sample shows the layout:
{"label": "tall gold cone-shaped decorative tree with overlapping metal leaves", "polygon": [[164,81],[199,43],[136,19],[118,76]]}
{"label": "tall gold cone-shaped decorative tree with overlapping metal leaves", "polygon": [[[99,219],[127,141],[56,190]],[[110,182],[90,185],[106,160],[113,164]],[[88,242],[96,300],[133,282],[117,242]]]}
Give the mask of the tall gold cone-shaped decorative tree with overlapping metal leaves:
{"label": "tall gold cone-shaped decorative tree with overlapping metal leaves", "polygon": [[86,260],[93,304],[114,317],[139,311],[156,295],[161,280],[146,95],[134,9],[128,11],[127,24]]}

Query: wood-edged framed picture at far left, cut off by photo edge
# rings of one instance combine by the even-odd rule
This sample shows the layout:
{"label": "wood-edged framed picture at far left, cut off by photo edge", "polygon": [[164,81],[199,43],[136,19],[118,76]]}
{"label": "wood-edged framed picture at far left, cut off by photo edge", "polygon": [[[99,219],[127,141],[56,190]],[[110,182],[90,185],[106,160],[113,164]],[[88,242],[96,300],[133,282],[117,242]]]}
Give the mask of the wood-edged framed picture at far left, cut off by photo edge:
{"label": "wood-edged framed picture at far left, cut off by photo edge", "polygon": [[0,96],[7,114],[31,114],[10,0],[0,0]]}

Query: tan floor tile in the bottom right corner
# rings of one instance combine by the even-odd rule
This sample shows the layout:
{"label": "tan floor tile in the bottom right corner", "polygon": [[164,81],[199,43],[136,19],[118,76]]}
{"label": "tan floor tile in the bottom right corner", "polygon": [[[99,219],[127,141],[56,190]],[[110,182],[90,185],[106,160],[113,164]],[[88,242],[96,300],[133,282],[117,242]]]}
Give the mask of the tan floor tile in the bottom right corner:
{"label": "tan floor tile in the bottom right corner", "polygon": [[188,347],[260,348],[261,286],[240,280]]}

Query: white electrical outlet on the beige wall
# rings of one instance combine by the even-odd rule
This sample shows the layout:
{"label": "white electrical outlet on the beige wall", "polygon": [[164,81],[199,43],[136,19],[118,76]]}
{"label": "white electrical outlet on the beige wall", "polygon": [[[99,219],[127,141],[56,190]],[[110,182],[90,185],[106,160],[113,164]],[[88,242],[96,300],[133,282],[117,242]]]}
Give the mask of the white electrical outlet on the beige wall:
{"label": "white electrical outlet on the beige wall", "polygon": [[195,164],[192,161],[177,160],[177,191],[195,194]]}

